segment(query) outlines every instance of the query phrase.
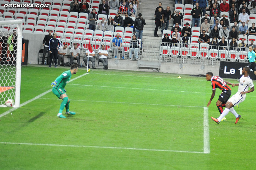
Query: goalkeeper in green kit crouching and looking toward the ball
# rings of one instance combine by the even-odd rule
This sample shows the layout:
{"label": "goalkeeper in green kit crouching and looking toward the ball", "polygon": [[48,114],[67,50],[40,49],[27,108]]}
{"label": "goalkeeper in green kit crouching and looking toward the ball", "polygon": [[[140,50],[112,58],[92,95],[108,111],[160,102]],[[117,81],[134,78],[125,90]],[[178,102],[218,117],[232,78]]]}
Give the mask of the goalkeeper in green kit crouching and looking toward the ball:
{"label": "goalkeeper in green kit crouching and looking toward the ball", "polygon": [[51,87],[53,87],[52,91],[58,98],[62,99],[61,107],[59,108],[58,117],[66,118],[62,115],[62,111],[64,107],[66,107],[66,114],[75,115],[75,112],[69,111],[69,98],[66,95],[66,90],[64,87],[69,82],[71,75],[77,73],[77,64],[72,64],[70,70],[63,72],[60,76],[56,78],[54,82],[51,83]]}

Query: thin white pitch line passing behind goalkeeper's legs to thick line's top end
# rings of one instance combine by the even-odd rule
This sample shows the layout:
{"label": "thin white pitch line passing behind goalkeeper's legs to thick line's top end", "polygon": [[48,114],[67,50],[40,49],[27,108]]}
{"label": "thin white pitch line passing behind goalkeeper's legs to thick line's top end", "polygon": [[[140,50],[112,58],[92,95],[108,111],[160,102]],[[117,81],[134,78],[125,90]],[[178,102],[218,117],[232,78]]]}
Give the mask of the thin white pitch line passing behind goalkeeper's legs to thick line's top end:
{"label": "thin white pitch line passing behind goalkeeper's legs to thick line's top end", "polygon": [[[59,100],[55,98],[40,98],[46,100]],[[177,106],[177,107],[199,107],[203,106],[182,106],[182,105],[171,105],[171,104],[151,104],[151,103],[129,103],[129,102],[117,102],[117,101],[94,101],[94,100],[72,100],[72,101],[86,101],[86,102],[102,102],[102,103],[121,103],[121,104],[145,104],[145,105],[154,105],[154,106]]]}

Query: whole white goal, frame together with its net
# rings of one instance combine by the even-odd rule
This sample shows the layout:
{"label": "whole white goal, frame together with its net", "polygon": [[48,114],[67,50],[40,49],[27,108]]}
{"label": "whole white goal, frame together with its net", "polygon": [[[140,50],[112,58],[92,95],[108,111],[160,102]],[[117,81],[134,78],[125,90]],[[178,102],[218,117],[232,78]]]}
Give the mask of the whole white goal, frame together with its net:
{"label": "whole white goal, frame together with its net", "polygon": [[20,107],[22,21],[0,21],[0,107]]}

